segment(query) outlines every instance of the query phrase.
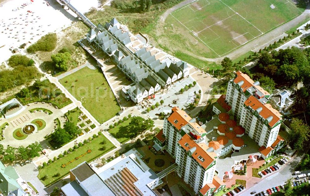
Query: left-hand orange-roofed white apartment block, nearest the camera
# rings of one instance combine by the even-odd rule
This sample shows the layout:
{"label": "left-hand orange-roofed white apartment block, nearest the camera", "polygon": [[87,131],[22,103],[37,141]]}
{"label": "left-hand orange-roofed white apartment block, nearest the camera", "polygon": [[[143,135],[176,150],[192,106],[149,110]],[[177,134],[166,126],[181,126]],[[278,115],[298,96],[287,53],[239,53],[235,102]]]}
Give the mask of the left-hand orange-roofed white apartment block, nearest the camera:
{"label": "left-hand orange-roofed white apartment block, nearest the camera", "polygon": [[164,120],[162,133],[159,132],[155,140],[159,143],[165,139],[165,149],[175,157],[178,165],[176,173],[193,187],[195,193],[210,196],[225,188],[218,177],[214,178],[217,155],[213,152],[214,148],[204,143],[206,131],[197,124],[196,119],[174,107]]}

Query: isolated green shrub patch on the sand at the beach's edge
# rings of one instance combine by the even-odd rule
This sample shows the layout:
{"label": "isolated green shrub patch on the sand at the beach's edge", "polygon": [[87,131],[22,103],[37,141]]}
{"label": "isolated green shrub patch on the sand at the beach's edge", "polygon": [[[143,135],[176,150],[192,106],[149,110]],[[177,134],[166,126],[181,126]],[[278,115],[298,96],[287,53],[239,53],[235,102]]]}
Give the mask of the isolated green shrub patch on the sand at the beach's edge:
{"label": "isolated green shrub patch on the sand at the beach's edge", "polygon": [[55,49],[57,36],[55,33],[44,35],[36,43],[27,48],[27,52],[33,53],[37,51],[51,52]]}

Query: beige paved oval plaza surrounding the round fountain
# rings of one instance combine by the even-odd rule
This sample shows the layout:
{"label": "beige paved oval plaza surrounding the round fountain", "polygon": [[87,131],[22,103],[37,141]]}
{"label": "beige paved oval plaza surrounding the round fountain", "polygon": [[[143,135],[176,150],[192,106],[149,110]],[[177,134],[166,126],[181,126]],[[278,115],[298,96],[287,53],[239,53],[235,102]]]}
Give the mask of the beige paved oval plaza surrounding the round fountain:
{"label": "beige paved oval plaza surrounding the round fountain", "polygon": [[[18,148],[19,146],[28,146],[29,144],[32,144],[36,141],[40,142],[42,145],[42,148],[49,148],[48,142],[44,139],[44,136],[47,134],[50,134],[54,129],[55,129],[55,123],[54,120],[58,118],[61,122],[61,124],[64,124],[66,119],[64,118],[64,114],[68,112],[70,107],[72,105],[68,105],[62,109],[56,109],[55,107],[49,105],[48,103],[30,103],[28,105],[23,106],[25,107],[24,111],[20,112],[17,116],[7,118],[7,119],[2,119],[0,121],[0,124],[8,123],[9,125],[4,129],[3,131],[3,136],[4,140],[0,142],[4,147],[7,146],[13,146]],[[39,112],[40,109],[38,109],[37,112],[30,113],[29,110],[35,109],[35,108],[43,108],[47,109],[52,112],[51,115],[45,113],[45,112]],[[14,112],[14,110],[18,110],[19,108],[15,108],[10,112]],[[27,116],[27,118],[26,118]],[[27,119],[27,120],[20,120],[20,119]],[[25,125],[30,124],[33,120],[35,119],[42,119],[45,121],[46,126],[42,130],[35,130],[31,134],[27,134],[27,138],[22,139],[22,140],[17,140],[13,137],[13,132],[16,129],[23,129]],[[26,135],[23,132],[24,135]]]}

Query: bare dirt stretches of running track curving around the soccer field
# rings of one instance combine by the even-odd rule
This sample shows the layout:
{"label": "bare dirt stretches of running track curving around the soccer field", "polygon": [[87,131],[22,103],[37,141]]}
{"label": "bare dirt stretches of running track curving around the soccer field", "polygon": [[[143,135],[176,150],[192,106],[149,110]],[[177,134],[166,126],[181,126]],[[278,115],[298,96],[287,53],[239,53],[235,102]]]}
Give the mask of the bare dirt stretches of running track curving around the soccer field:
{"label": "bare dirt stretches of running track curving around the soccer field", "polygon": [[[180,2],[178,5],[175,5],[174,7],[171,7],[170,9],[166,10],[162,14],[162,16],[160,17],[160,19],[158,21],[157,28],[156,28],[157,35],[164,34],[163,26],[164,26],[164,22],[165,22],[166,18],[169,16],[169,14],[171,14],[172,12],[176,11],[177,9],[184,7],[185,5],[188,5],[189,3],[192,3],[194,1],[195,0],[185,0],[183,2]],[[200,60],[209,61],[209,62],[217,62],[217,63],[222,61],[222,59],[224,57],[229,57],[231,59],[235,59],[235,58],[240,57],[241,55],[245,54],[246,52],[249,52],[250,50],[253,50],[253,49],[259,47],[260,45],[267,43],[268,41],[279,37],[285,31],[287,31],[287,30],[291,29],[292,27],[298,25],[300,22],[304,21],[306,18],[308,18],[310,20],[309,6],[301,15],[297,16],[293,20],[285,23],[284,25],[281,25],[277,29],[270,31],[267,34],[263,34],[261,37],[255,39],[254,41],[252,41],[250,43],[247,43],[246,45],[242,46],[241,48],[238,48],[238,49],[230,52],[229,54],[227,54],[223,57],[206,58],[206,57],[200,57],[200,56],[196,56],[196,55],[194,55],[194,56]]]}

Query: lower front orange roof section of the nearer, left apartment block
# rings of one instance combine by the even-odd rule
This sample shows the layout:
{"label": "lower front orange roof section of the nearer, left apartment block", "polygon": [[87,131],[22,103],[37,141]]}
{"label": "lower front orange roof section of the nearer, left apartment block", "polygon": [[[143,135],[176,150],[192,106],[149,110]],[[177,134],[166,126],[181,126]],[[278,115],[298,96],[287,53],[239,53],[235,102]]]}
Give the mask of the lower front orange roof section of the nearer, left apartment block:
{"label": "lower front orange roof section of the nearer, left apartment block", "polygon": [[[185,146],[186,143],[188,144],[187,146]],[[215,160],[215,157],[217,157],[217,155],[213,152],[206,152],[209,147],[205,143],[197,144],[194,139],[188,134],[183,135],[183,137],[179,140],[179,144],[186,151],[196,147],[196,150],[192,154],[192,157],[205,169]],[[198,158],[199,156],[204,159],[203,162]]]}

